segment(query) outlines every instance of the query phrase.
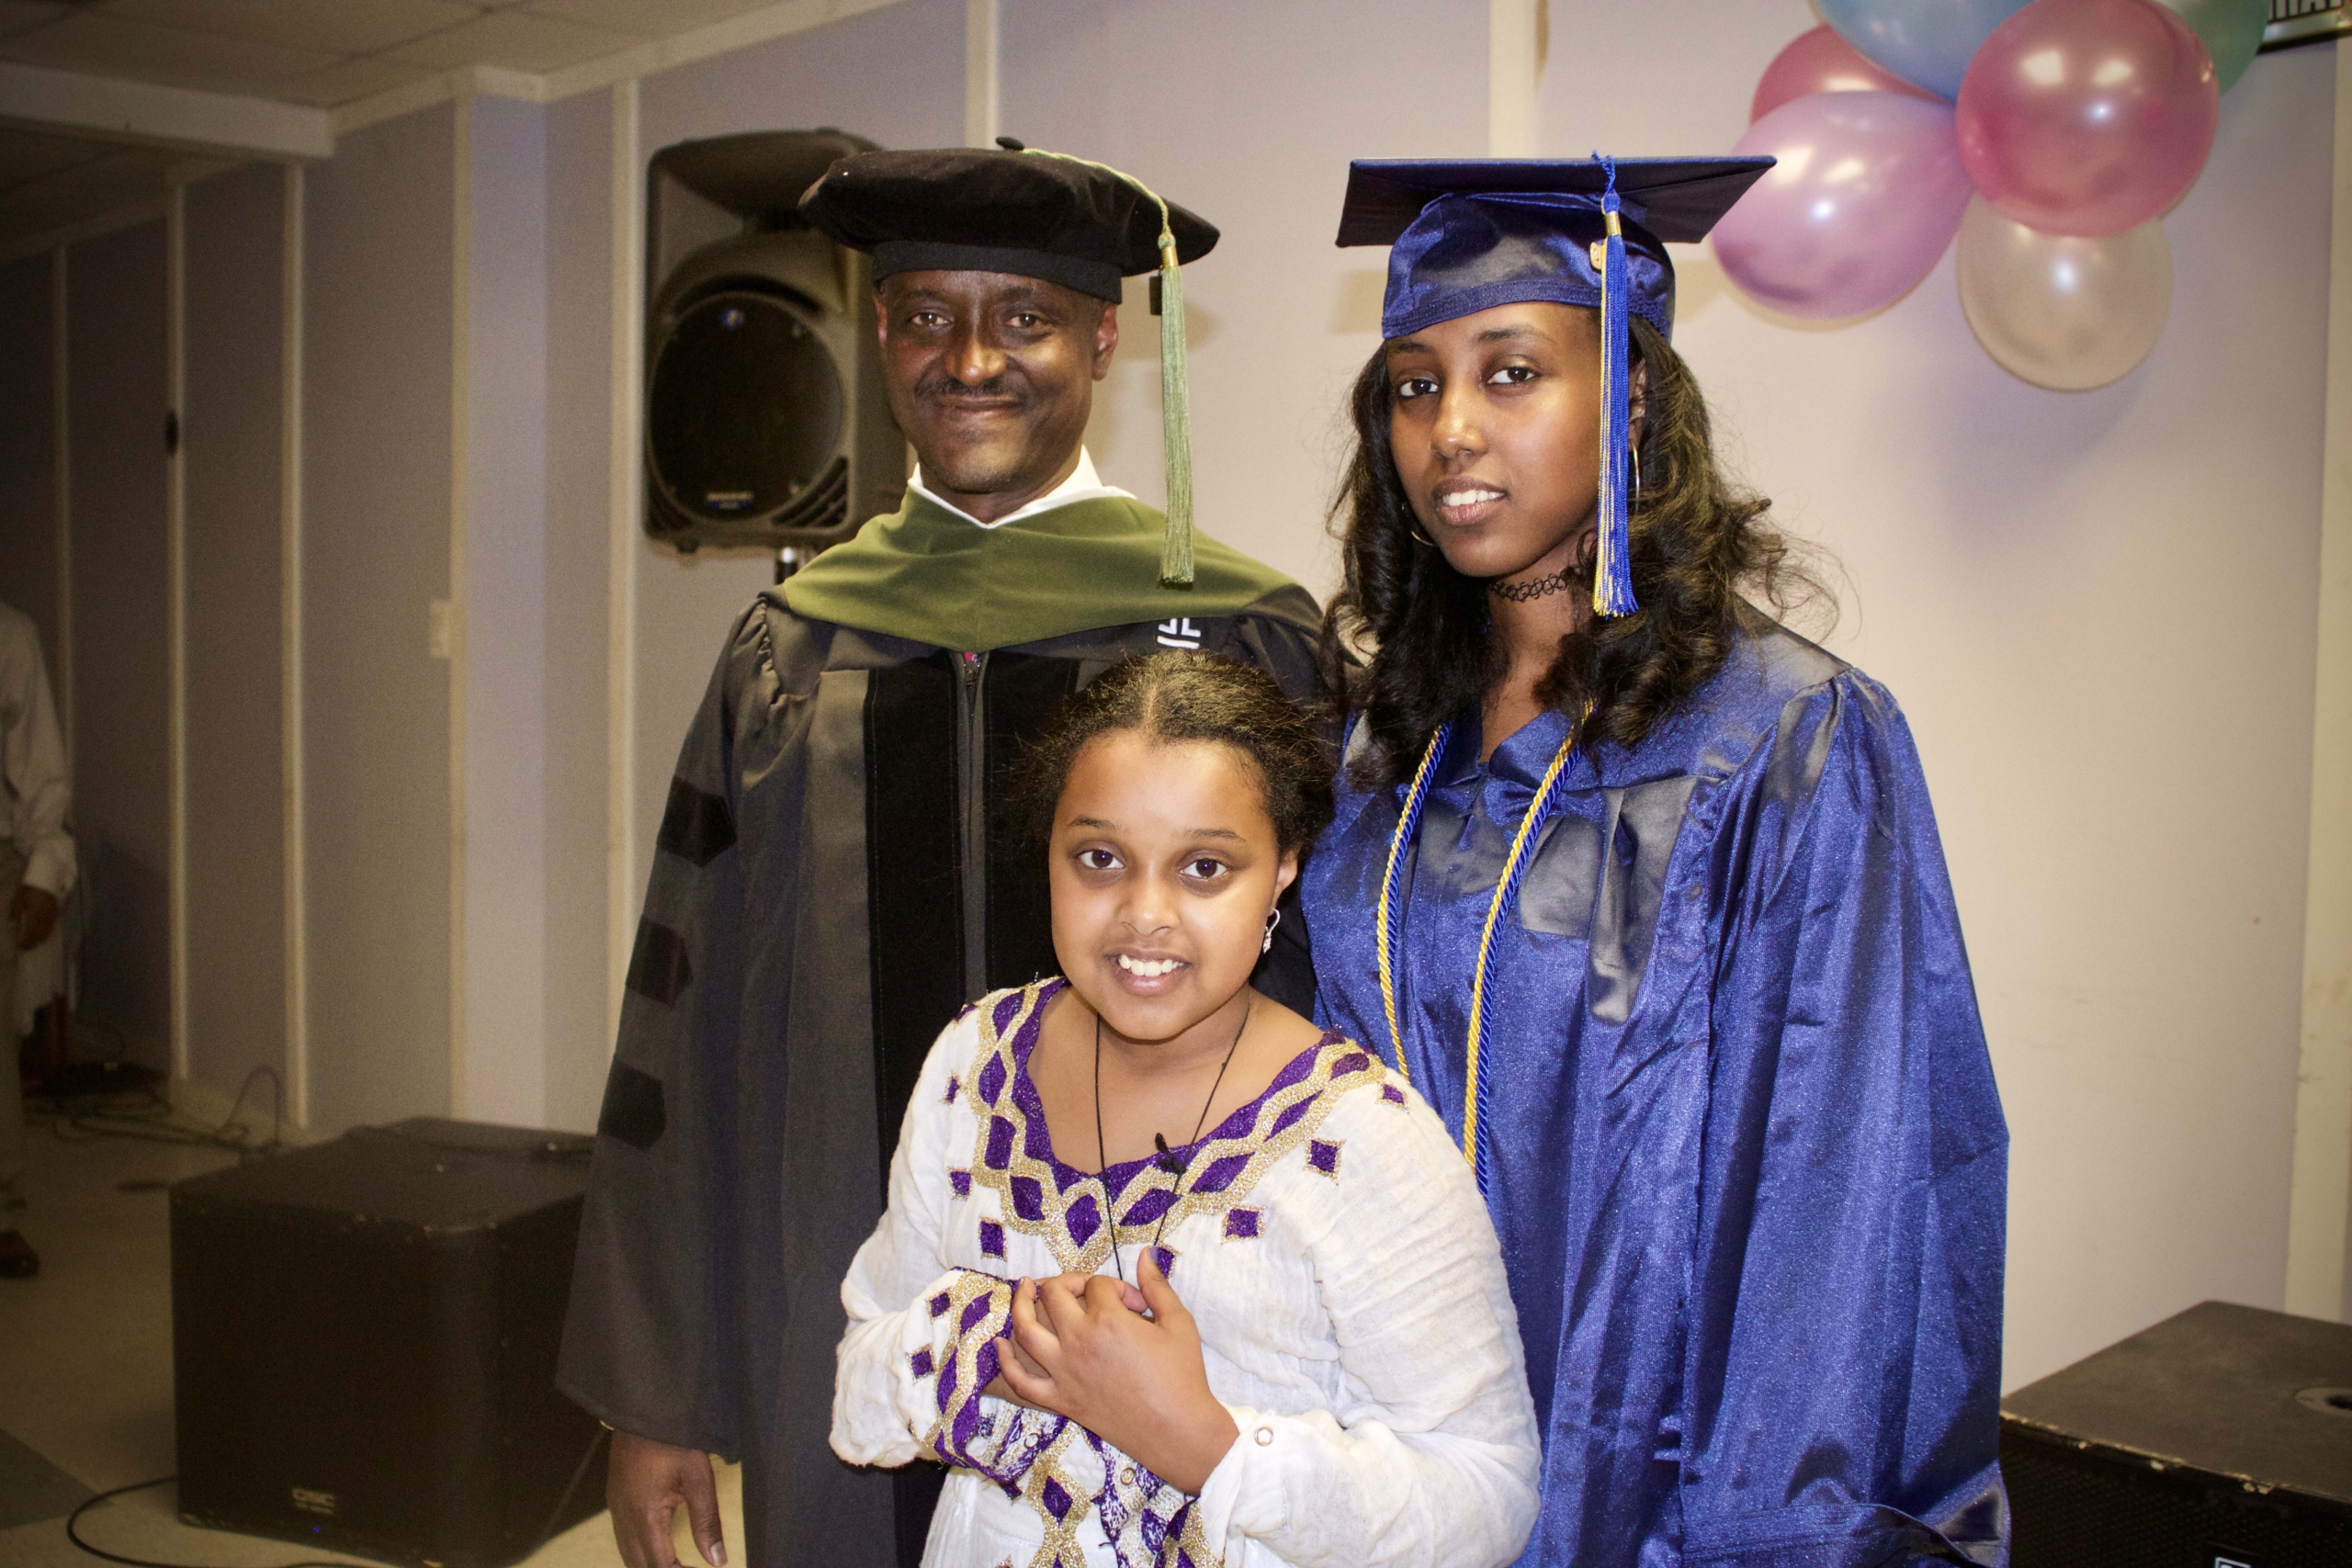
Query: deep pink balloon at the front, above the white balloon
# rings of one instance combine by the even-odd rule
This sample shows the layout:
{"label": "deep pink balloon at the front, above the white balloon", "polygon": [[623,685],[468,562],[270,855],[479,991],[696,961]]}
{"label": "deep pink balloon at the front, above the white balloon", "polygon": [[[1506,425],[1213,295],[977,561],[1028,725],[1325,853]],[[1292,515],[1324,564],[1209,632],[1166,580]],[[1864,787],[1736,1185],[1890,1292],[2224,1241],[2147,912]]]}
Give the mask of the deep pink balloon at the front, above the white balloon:
{"label": "deep pink balloon at the front, above the white balloon", "polygon": [[2152,0],[2034,0],[1969,61],[1957,110],[1987,202],[2049,235],[2100,237],[2197,183],[2220,82],[2190,24]]}

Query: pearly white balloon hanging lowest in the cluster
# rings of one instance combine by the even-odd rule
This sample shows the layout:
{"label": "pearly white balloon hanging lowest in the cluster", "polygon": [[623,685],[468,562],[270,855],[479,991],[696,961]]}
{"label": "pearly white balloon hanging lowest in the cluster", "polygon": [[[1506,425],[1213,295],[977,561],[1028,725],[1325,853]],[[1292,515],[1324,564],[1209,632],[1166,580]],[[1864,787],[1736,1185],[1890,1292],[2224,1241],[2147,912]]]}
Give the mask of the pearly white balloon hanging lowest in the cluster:
{"label": "pearly white balloon hanging lowest in the cluster", "polygon": [[1969,197],[1959,219],[1959,308],[1985,353],[2020,381],[2089,393],[2164,336],[2173,247],[2164,223],[2098,240],[2044,235]]}

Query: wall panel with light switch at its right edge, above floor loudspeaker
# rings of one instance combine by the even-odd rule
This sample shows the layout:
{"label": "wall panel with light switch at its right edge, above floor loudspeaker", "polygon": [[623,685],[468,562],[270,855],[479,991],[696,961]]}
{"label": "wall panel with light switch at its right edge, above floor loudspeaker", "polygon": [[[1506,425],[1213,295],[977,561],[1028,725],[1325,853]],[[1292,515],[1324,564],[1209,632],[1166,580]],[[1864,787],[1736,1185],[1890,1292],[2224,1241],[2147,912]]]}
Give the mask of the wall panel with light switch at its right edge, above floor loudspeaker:
{"label": "wall panel with light switch at its right edge, above floor loudspeaker", "polygon": [[303,736],[310,1124],[447,1114],[456,113],[306,176]]}

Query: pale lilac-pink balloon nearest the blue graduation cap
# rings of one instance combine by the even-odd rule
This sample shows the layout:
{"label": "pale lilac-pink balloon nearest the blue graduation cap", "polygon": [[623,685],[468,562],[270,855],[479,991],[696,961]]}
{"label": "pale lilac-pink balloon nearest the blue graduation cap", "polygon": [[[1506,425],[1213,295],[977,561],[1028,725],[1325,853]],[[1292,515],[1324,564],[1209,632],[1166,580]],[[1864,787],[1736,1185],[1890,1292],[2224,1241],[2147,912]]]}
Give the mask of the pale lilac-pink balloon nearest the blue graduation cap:
{"label": "pale lilac-pink balloon nearest the blue graduation cap", "polygon": [[1780,162],[1715,226],[1715,259],[1788,315],[1842,320],[1903,299],[1969,209],[1952,108],[1936,99],[1816,92],[1733,150]]}

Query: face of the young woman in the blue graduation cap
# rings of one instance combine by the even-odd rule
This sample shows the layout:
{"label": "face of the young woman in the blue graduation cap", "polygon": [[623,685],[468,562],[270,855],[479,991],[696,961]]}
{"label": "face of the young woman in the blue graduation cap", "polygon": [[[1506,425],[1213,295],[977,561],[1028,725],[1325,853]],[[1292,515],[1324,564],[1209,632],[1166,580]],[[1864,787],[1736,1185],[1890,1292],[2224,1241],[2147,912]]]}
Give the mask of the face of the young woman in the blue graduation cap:
{"label": "face of the young woman in the blue graduation cap", "polygon": [[1599,501],[1599,313],[1496,306],[1388,341],[1388,437],[1463,576],[1557,571]]}

